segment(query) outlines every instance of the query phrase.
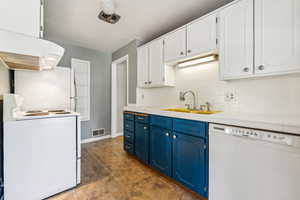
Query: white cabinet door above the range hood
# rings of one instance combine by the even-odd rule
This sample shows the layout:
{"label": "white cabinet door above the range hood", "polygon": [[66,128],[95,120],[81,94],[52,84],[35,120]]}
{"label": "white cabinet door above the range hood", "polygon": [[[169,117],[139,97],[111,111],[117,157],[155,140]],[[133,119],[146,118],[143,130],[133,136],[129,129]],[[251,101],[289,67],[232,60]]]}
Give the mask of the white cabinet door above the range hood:
{"label": "white cabinet door above the range hood", "polygon": [[40,36],[41,0],[2,0],[0,5],[0,29]]}

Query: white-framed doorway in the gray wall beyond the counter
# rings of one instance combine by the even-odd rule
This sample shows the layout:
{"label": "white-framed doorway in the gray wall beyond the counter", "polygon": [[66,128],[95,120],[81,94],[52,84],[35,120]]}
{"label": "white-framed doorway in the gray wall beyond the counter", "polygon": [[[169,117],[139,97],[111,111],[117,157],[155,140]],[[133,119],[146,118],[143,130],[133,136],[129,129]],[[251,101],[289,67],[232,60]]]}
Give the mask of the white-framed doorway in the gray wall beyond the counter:
{"label": "white-framed doorway in the gray wall beyond the counter", "polygon": [[123,135],[123,109],[128,105],[128,55],[112,63],[111,136]]}

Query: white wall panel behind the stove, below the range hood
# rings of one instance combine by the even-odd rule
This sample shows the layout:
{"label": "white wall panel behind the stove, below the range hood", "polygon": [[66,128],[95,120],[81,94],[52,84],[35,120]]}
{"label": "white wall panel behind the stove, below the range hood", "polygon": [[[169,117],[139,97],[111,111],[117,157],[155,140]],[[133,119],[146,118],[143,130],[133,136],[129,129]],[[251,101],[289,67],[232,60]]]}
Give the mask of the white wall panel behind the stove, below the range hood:
{"label": "white wall panel behind the stove, below the range hood", "polygon": [[24,97],[24,110],[70,109],[70,68],[15,71],[15,93]]}

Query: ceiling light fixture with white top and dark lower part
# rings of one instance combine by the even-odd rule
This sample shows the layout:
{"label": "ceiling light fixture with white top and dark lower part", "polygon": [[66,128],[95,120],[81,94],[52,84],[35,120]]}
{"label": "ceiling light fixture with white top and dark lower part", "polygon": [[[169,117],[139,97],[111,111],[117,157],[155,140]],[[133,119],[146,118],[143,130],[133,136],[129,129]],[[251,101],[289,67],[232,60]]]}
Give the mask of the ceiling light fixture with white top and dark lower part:
{"label": "ceiling light fixture with white top and dark lower part", "polygon": [[117,23],[121,16],[115,13],[116,5],[113,0],[102,0],[103,10],[99,13],[98,18],[110,24]]}

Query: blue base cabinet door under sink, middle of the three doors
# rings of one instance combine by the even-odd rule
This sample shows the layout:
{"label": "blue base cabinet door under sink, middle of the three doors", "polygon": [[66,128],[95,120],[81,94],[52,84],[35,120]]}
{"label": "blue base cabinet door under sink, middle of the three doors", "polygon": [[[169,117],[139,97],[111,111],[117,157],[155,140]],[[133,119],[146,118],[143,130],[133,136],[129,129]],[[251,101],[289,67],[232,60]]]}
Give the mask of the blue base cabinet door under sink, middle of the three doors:
{"label": "blue base cabinet door under sink, middle of the three doors", "polygon": [[161,173],[172,176],[171,131],[151,126],[150,165]]}

